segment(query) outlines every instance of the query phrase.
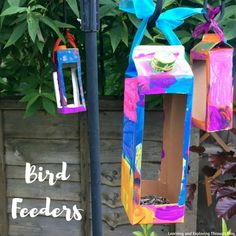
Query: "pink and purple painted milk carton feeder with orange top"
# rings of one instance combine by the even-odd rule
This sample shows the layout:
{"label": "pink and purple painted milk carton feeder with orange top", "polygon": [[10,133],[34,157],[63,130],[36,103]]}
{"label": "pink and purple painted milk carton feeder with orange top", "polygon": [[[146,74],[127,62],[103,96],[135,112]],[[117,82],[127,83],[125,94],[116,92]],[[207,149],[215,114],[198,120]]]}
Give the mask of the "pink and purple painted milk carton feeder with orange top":
{"label": "pink and purple painted milk carton feeder with orange top", "polygon": [[205,34],[191,50],[195,76],[193,124],[215,132],[233,127],[233,48],[217,34]]}

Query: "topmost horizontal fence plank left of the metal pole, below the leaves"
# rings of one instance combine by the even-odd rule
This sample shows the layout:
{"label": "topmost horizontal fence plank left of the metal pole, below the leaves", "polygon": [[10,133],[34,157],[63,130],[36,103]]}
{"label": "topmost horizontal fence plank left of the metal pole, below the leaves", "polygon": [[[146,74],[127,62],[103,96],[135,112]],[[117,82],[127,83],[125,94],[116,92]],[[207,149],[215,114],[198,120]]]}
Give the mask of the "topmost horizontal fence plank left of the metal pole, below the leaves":
{"label": "topmost horizontal fence plank left of the metal pole, below the leaves", "polygon": [[[24,111],[4,111],[5,135],[14,138],[75,139],[78,140],[77,115],[51,117],[44,112],[23,119]],[[17,121],[17,122],[16,122]]]}

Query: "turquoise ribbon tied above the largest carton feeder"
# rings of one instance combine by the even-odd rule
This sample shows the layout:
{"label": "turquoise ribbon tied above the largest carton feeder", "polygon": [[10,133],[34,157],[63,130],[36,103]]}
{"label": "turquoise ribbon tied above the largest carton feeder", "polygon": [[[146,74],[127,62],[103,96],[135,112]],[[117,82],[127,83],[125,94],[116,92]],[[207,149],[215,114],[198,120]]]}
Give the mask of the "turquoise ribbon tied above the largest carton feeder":
{"label": "turquoise ribbon tied above the largest carton feeder", "polygon": [[[147,29],[148,20],[155,11],[155,4],[153,0],[120,0],[120,10],[135,14],[137,18],[142,19],[134,37],[129,56],[130,64],[126,71],[128,77],[133,77],[136,74],[136,69],[132,60],[133,50],[143,39],[144,33]],[[174,29],[182,25],[185,19],[202,13],[202,8],[173,8],[161,13],[156,21],[156,27],[165,35],[170,45],[182,45],[181,41],[174,33]]]}

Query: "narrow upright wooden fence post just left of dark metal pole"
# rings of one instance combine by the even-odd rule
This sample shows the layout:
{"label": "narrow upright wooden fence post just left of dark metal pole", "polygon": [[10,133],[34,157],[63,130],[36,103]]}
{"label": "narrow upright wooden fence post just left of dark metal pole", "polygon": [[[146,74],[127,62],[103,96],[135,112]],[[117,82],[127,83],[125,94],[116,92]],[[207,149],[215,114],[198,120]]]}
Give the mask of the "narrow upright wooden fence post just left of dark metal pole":
{"label": "narrow upright wooden fence post just left of dark metal pole", "polygon": [[79,116],[81,208],[84,210],[82,234],[84,236],[90,236],[90,168],[88,151],[88,127],[86,114],[80,114]]}

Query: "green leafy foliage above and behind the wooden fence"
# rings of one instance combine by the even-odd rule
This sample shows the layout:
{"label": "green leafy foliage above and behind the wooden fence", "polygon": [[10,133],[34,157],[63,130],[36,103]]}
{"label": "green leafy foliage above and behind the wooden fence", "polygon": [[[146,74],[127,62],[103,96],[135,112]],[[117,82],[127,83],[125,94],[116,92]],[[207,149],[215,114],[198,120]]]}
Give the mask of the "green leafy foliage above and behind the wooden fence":
{"label": "green leafy foliage above and behind the wooden fence", "polygon": [[[80,31],[80,17],[76,0],[67,1],[67,19],[63,21],[63,0],[3,0],[0,1],[0,96],[23,96],[26,116],[37,109],[55,113],[55,99],[51,78],[51,55],[57,37],[70,28],[76,36],[85,71],[84,34]],[[220,22],[226,37],[236,47],[236,11],[234,0],[226,2],[225,16]],[[212,1],[213,2],[213,1]],[[98,37],[100,95],[123,95],[124,73],[128,55],[140,20],[118,8],[118,0],[100,0],[101,29]],[[218,4],[218,1],[214,3]],[[202,0],[168,0],[163,11],[178,7],[201,7]],[[187,53],[195,44],[194,27],[204,21],[195,16],[176,30]],[[146,32],[143,44],[166,44],[157,29]],[[83,81],[86,80],[83,76]],[[85,86],[84,86],[85,87]],[[86,92],[86,91],[85,91]],[[151,99],[150,106],[161,103]]]}

